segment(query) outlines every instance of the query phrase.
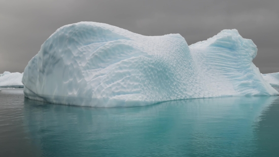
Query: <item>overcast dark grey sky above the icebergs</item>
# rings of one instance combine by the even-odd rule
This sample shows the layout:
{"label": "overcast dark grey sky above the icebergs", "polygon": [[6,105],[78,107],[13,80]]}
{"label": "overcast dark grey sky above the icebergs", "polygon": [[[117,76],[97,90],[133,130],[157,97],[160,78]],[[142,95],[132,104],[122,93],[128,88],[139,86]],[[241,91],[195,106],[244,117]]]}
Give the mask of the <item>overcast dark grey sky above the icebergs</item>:
{"label": "overcast dark grey sky above the icebergs", "polygon": [[237,29],[258,47],[261,73],[279,72],[279,1],[0,0],[0,73],[20,72],[59,27],[108,23],[146,36],[181,34],[188,45]]}

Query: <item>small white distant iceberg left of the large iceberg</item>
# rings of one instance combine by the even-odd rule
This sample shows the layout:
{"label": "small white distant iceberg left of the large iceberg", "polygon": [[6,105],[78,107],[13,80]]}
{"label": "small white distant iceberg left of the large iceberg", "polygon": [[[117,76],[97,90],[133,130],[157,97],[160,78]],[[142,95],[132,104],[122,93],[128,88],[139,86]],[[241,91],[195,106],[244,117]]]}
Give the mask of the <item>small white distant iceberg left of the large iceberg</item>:
{"label": "small white distant iceberg left of the large iceberg", "polygon": [[0,88],[23,88],[22,84],[23,73],[4,72],[0,74]]}

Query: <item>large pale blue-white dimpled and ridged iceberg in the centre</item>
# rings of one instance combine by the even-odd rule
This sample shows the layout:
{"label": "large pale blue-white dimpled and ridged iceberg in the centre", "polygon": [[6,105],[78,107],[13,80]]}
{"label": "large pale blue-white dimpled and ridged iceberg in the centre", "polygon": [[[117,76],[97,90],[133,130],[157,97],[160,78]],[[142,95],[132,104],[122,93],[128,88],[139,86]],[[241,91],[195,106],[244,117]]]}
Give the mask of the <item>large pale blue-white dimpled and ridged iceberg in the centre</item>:
{"label": "large pale blue-white dimpled and ridged iceberg in the centre", "polygon": [[94,107],[278,95],[253,64],[256,54],[236,29],[188,46],[179,34],[151,37],[79,22],[45,41],[22,82],[29,99]]}

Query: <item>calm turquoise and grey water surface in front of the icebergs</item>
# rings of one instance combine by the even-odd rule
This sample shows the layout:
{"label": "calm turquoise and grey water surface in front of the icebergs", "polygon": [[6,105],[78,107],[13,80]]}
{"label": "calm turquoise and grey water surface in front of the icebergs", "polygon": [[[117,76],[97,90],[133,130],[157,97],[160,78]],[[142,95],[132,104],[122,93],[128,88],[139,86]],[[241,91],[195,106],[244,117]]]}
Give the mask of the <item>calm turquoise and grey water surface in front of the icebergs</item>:
{"label": "calm turquoise and grey water surface in front of the icebergs", "polygon": [[0,91],[0,156],[279,156],[279,97],[90,108]]}

